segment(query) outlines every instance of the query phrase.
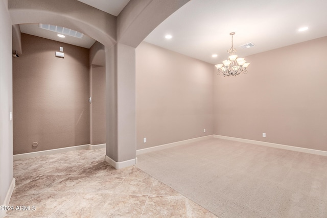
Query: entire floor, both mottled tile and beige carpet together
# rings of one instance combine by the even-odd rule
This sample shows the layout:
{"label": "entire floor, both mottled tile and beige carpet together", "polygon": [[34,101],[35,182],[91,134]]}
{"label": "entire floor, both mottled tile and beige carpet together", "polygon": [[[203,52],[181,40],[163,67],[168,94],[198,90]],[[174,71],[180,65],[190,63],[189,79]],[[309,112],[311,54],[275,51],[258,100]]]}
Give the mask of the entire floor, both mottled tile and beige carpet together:
{"label": "entire floor, both mottled tile and beige carpet together", "polygon": [[29,210],[7,217],[327,217],[325,156],[217,138],[138,155],[118,170],[104,156],[14,161],[10,205]]}

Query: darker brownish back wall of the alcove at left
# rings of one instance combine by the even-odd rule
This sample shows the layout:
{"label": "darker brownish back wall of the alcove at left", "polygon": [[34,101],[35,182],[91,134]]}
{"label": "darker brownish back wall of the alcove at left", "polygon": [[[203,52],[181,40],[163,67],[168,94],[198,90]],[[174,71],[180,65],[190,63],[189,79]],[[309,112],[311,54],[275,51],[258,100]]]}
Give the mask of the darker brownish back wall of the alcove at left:
{"label": "darker brownish back wall of the alcove at left", "polygon": [[[21,40],[23,54],[13,61],[14,154],[88,144],[88,49],[27,34]],[[55,57],[59,46],[63,59]]]}

